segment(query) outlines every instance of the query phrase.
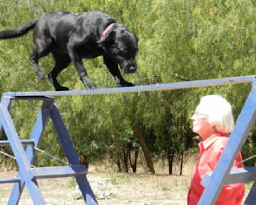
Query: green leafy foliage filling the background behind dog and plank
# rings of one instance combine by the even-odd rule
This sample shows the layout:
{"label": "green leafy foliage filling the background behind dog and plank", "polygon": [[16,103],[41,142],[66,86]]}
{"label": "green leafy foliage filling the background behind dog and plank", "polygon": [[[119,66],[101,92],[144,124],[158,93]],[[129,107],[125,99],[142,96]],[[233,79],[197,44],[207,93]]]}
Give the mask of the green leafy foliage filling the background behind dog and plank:
{"label": "green leafy foliage filling the background behind dog and plank", "polygon": [[[171,83],[229,76],[255,75],[255,1],[191,0],[1,0],[0,30],[19,27],[45,12],[101,10],[124,23],[139,38],[138,72],[124,76],[136,85]],[[0,41],[0,93],[53,90],[38,80],[29,64],[32,32]],[[102,57],[84,60],[90,79],[100,88],[116,87]],[[40,60],[48,73],[51,56]],[[72,90],[84,89],[73,65],[58,79]],[[230,85],[179,91],[56,98],[79,156],[89,162],[123,159],[127,145],[138,148],[132,129],[138,122],[152,156],[179,157],[196,146],[190,117],[201,96],[221,94],[238,117],[250,85]],[[39,102],[15,102],[12,115],[21,138],[29,138]],[[255,126],[244,158],[255,153]],[[64,157],[53,127],[46,127],[41,148]],[[122,161],[122,160],[121,160]],[[36,165],[54,164],[38,155]],[[255,164],[250,161],[247,165]]]}

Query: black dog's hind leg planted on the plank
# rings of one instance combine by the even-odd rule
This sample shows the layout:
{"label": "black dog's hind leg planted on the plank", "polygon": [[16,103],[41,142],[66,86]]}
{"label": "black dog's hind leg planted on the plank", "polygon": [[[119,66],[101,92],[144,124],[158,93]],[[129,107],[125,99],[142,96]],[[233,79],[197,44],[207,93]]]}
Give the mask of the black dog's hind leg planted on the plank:
{"label": "black dog's hind leg planted on the plank", "polygon": [[57,54],[53,54],[53,58],[55,60],[55,66],[48,74],[48,78],[52,82],[56,91],[69,90],[67,87],[63,87],[58,83],[57,76],[63,69],[68,67],[68,65],[71,63],[71,59],[68,55],[60,56]]}

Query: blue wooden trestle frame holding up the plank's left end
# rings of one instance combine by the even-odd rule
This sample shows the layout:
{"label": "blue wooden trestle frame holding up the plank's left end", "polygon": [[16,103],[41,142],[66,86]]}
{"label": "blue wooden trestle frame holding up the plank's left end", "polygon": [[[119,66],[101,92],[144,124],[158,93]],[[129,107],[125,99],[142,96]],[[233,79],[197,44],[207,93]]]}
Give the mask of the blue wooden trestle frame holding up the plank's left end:
{"label": "blue wooden trestle frame holding up the plank's left end", "polygon": [[[11,102],[13,100],[43,101],[29,140],[19,139],[18,133],[9,113]],[[33,149],[33,147],[38,147],[49,117],[52,118],[53,125],[57,131],[61,145],[65,151],[69,164],[72,166],[40,168],[31,168],[30,166],[30,164],[32,164],[34,161],[36,154],[36,151]],[[16,205],[19,203],[20,196],[25,184],[33,204],[44,205],[45,201],[37,184],[37,179],[66,176],[75,176],[87,205],[98,204],[86,178],[87,168],[86,166],[81,165],[79,162],[78,156],[68,136],[67,130],[65,129],[60,113],[54,103],[54,98],[49,96],[28,98],[3,96],[0,103],[0,133],[2,133],[3,130],[5,131],[8,141],[3,140],[0,142],[0,145],[11,146],[19,166],[18,176],[16,178],[0,180],[0,183],[14,183],[8,205]],[[25,152],[22,144],[30,144],[33,146],[27,146]]]}

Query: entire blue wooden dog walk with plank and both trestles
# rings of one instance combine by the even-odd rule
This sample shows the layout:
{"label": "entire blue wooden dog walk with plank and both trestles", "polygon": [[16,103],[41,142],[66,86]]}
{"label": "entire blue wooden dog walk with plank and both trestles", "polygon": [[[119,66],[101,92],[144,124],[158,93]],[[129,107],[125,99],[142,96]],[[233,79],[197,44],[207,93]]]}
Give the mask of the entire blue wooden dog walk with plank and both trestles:
{"label": "entire blue wooden dog walk with plank and both trestles", "polygon": [[[234,159],[241,150],[248,137],[248,133],[256,119],[256,76],[240,76],[223,79],[209,79],[198,81],[185,81],[169,84],[155,84],[147,86],[106,88],[97,90],[79,91],[54,91],[54,92],[9,92],[3,93],[0,103],[0,136],[5,132],[8,140],[1,140],[0,145],[10,145],[19,166],[18,176],[11,179],[1,179],[0,183],[14,183],[8,205],[16,205],[19,202],[24,186],[27,186],[31,199],[35,205],[44,205],[45,200],[39,189],[37,179],[75,176],[83,198],[87,205],[97,204],[97,200],[91,190],[86,174],[87,168],[80,164],[78,156],[72,145],[63,119],[54,102],[54,97],[69,95],[99,95],[128,92],[178,90],[186,88],[198,88],[219,86],[226,84],[252,83],[252,90],[246,99],[241,113],[236,121],[229,141],[212,173],[206,174],[202,180],[205,187],[199,205],[215,204],[223,185],[228,183],[255,181],[248,197],[246,205],[255,205],[256,202],[256,167],[245,167],[231,170]],[[14,100],[42,100],[33,131],[29,140],[20,140],[10,115],[11,102]],[[37,147],[49,117],[59,137],[61,146],[68,159],[68,166],[59,167],[32,167]],[[29,145],[26,151],[22,145]]]}

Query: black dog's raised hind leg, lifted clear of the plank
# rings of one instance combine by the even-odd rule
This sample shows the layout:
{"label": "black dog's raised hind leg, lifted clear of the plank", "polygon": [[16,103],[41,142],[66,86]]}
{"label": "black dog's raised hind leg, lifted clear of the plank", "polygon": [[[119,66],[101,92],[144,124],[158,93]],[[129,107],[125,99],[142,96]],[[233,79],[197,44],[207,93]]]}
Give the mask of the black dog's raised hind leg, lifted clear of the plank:
{"label": "black dog's raised hind leg, lifted clear of the plank", "polygon": [[35,39],[32,49],[32,54],[29,58],[35,74],[37,75],[38,79],[43,80],[44,79],[44,71],[39,67],[38,60],[46,55],[49,54],[51,49],[51,39]]}

